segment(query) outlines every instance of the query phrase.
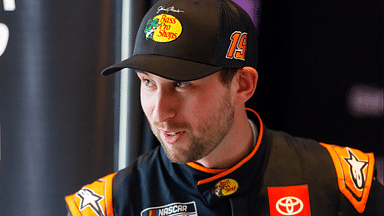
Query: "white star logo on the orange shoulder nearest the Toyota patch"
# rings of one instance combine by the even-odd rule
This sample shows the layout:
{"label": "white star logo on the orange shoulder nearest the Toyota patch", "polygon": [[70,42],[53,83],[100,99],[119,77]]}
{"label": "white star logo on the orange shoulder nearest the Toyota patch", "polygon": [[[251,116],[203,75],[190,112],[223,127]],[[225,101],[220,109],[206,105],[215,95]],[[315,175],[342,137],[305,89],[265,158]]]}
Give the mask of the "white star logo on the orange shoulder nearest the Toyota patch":
{"label": "white star logo on the orange shoulder nearest the Toyota patch", "polygon": [[365,173],[364,168],[368,165],[368,161],[361,161],[356,157],[353,152],[348,149],[349,158],[343,157],[349,165],[349,171],[351,172],[353,184],[359,190],[364,189],[365,186]]}

